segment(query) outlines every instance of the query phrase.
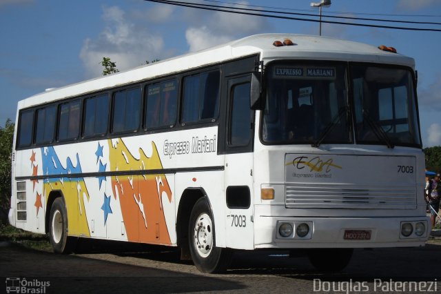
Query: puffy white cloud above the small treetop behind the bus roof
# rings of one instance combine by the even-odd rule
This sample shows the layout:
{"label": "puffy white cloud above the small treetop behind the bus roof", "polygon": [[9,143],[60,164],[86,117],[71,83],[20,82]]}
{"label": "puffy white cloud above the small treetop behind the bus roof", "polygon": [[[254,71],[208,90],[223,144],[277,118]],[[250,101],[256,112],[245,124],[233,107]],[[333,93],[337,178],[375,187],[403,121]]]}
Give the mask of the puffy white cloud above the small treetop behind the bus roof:
{"label": "puffy white cloud above the small treetop behind the bus roof", "polygon": [[88,76],[101,75],[103,68],[99,63],[103,57],[110,57],[120,71],[165,57],[163,38],[135,26],[121,8],[103,8],[102,18],[105,27],[98,37],[85,39],[80,52]]}

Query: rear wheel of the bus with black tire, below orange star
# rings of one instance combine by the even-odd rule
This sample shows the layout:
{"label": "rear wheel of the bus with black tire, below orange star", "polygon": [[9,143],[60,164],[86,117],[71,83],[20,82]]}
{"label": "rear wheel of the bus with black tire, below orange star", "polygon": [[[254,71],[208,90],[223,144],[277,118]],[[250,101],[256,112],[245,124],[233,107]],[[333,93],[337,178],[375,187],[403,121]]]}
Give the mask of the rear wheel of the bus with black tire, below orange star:
{"label": "rear wheel of the bus with black tire, below orange star", "polygon": [[72,253],[75,239],[68,237],[68,213],[62,197],[55,199],[50,208],[49,239],[55,253]]}

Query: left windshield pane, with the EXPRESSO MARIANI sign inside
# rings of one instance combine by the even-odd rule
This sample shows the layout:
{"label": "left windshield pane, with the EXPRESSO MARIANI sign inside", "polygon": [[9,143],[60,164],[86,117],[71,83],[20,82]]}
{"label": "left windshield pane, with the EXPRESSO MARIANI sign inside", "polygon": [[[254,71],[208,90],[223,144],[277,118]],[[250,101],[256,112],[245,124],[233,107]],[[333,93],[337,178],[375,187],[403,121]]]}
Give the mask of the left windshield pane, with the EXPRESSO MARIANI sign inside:
{"label": "left windshield pane, with the EXPRESSO MARIANI sign inside", "polygon": [[263,141],[351,143],[345,66],[277,64],[267,72]]}

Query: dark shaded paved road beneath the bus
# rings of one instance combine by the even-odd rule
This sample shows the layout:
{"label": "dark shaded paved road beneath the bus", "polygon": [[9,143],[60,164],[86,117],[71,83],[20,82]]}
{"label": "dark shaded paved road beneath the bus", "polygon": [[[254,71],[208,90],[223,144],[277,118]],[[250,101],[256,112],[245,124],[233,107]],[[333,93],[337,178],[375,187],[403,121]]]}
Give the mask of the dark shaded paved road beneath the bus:
{"label": "dark shaded paved road beneath the bus", "polygon": [[40,293],[441,293],[441,242],[358,249],[337,274],[318,273],[305,257],[239,252],[223,275],[199,273],[174,251],[55,255],[3,243],[0,277],[0,293],[13,284],[7,277]]}

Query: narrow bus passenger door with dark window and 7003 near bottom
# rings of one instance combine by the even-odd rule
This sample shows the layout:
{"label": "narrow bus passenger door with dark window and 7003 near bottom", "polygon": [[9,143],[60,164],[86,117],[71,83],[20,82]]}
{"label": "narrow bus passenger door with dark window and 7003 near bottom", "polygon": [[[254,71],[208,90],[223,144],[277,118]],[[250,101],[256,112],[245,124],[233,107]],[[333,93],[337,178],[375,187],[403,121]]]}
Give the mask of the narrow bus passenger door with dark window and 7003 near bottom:
{"label": "narrow bus passenger door with dark window and 7003 near bottom", "polygon": [[254,248],[253,129],[250,75],[227,79],[225,121],[225,228],[230,248]]}

